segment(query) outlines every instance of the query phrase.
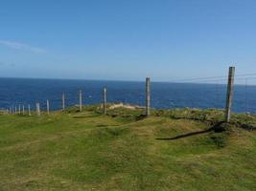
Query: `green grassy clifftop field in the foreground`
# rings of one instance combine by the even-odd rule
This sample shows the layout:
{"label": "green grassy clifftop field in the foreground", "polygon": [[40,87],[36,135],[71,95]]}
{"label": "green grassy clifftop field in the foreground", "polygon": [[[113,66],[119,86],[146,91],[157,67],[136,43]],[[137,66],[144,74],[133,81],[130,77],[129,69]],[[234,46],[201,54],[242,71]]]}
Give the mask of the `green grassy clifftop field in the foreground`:
{"label": "green grassy clifftop field in the foreground", "polygon": [[256,190],[256,117],[83,111],[0,116],[0,190]]}

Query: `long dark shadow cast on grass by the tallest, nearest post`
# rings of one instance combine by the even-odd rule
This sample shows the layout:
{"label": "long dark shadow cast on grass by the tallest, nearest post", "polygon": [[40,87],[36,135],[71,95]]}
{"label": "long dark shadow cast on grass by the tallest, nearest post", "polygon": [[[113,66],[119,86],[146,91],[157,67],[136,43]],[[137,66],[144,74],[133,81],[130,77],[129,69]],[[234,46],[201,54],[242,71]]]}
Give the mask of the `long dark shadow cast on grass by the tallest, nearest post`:
{"label": "long dark shadow cast on grass by the tallest, nearest post", "polygon": [[191,133],[188,133],[188,134],[183,134],[183,135],[180,135],[180,136],[176,136],[174,138],[155,138],[155,139],[156,140],[175,140],[175,139],[179,139],[179,138],[189,138],[189,137],[192,137],[192,136],[206,134],[206,133],[209,133],[209,132],[212,132],[212,131],[214,131],[216,133],[220,133],[220,132],[224,131],[224,128],[222,126],[224,123],[225,122],[221,121],[221,122],[216,123],[215,125],[213,125],[209,129],[202,130],[202,131],[197,131],[197,132],[191,132]]}

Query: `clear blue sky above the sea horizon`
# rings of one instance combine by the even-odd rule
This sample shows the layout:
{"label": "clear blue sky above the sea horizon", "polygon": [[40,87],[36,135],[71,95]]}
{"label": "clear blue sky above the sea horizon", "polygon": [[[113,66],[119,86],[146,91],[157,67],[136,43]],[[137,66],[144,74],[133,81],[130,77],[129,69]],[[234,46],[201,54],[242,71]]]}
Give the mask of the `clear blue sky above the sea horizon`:
{"label": "clear blue sky above the sea horizon", "polygon": [[255,0],[3,0],[0,77],[256,73]]}

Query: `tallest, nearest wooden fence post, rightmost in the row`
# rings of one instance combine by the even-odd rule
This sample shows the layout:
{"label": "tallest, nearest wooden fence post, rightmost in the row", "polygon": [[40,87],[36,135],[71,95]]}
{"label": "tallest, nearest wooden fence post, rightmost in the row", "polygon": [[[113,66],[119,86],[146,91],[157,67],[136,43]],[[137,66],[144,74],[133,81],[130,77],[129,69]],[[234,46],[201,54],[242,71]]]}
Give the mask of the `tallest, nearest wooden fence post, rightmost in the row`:
{"label": "tallest, nearest wooden fence post, rightmost in the row", "polygon": [[230,121],[231,116],[231,106],[234,92],[234,76],[235,76],[235,67],[229,67],[228,72],[228,84],[226,92],[226,107],[225,107],[225,121]]}

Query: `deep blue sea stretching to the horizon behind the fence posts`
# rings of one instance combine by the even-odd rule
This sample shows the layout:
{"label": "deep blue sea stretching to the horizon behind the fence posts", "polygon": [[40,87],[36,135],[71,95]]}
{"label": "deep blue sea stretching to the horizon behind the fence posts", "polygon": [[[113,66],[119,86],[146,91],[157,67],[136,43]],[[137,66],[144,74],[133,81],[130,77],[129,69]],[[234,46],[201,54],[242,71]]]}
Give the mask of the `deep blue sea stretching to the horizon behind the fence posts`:
{"label": "deep blue sea stretching to the horizon behind the fence posts", "polygon": [[[108,102],[145,105],[145,82],[0,78],[0,108],[30,104],[35,109],[35,102],[45,108],[49,99],[51,109],[58,110],[62,93],[66,106],[72,106],[79,103],[79,90],[83,104],[101,103],[104,87]],[[151,107],[223,109],[225,94],[226,85],[222,84],[151,82]],[[232,110],[256,113],[256,86],[236,85]]]}

